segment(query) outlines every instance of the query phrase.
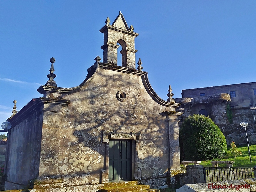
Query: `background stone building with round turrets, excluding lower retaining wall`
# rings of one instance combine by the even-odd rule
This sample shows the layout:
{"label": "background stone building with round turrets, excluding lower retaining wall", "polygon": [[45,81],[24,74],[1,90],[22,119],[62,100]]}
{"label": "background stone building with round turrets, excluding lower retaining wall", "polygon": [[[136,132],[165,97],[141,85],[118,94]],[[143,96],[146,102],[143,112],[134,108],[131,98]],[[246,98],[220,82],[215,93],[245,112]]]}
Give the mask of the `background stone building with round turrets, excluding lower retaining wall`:
{"label": "background stone building with round turrets, excluding lower retaining wall", "polygon": [[[185,89],[181,94],[182,98],[175,101],[185,108],[184,117],[205,114],[215,123],[240,124],[241,121],[247,121],[254,124],[250,107],[256,106],[256,82]],[[213,101],[219,102],[214,104]],[[227,104],[232,112],[231,121],[226,114]]]}

